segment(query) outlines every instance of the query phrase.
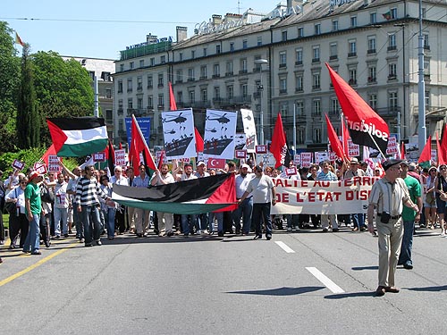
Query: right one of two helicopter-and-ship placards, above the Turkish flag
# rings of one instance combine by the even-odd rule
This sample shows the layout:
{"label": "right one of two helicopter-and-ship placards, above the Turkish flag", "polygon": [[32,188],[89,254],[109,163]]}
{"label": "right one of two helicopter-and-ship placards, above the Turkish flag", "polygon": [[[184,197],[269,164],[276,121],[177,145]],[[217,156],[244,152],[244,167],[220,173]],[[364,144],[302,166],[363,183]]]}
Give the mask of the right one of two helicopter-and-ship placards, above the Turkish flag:
{"label": "right one of two helicopter-and-ship placards, above the Turkish flag", "polygon": [[237,112],[207,109],[204,155],[215,158],[234,158],[237,115]]}

